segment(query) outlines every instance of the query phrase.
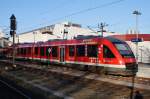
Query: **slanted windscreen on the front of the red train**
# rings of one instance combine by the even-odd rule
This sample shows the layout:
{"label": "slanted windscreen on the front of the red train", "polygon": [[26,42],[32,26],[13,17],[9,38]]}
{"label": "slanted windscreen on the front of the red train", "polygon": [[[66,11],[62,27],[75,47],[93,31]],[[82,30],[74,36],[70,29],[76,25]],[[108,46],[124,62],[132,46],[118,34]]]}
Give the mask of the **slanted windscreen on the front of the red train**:
{"label": "slanted windscreen on the front of the red train", "polygon": [[115,43],[116,48],[124,58],[135,58],[132,50],[126,43]]}

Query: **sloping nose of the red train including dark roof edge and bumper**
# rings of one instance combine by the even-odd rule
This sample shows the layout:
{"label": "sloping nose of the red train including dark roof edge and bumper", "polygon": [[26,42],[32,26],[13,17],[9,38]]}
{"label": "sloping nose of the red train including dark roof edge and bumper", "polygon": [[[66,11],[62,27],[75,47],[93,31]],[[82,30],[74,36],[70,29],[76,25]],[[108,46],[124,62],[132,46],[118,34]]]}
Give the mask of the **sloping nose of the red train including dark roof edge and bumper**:
{"label": "sloping nose of the red train including dark roof edge and bumper", "polygon": [[[138,71],[138,65],[136,62],[136,58],[129,47],[129,45],[122,40],[112,38],[112,37],[106,37],[111,41],[113,44],[114,48],[116,49],[117,52],[114,52],[116,54],[116,59],[119,63],[119,65],[125,66],[123,68],[122,73],[126,75],[135,75],[136,72]],[[113,50],[113,48],[112,48]]]}

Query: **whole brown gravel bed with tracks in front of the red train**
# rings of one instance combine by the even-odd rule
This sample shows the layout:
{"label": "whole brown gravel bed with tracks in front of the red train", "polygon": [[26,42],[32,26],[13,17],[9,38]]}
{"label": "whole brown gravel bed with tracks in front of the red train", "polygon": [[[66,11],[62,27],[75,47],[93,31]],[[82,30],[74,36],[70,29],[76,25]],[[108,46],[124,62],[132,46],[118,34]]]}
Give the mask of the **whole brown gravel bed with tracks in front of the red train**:
{"label": "whole brown gravel bed with tracks in front of the red train", "polygon": [[[129,77],[100,75],[73,68],[53,65],[47,67],[27,62],[17,62],[15,69],[8,68],[10,69],[6,72],[11,74],[11,77],[40,86],[47,91],[50,90],[53,95],[59,97],[71,97],[72,99],[112,99],[112,97],[114,97],[113,99],[129,99],[132,89],[132,84],[127,83],[128,80],[131,80]],[[135,83],[135,90],[140,90],[144,95],[144,99],[149,99],[149,87],[146,84]]]}

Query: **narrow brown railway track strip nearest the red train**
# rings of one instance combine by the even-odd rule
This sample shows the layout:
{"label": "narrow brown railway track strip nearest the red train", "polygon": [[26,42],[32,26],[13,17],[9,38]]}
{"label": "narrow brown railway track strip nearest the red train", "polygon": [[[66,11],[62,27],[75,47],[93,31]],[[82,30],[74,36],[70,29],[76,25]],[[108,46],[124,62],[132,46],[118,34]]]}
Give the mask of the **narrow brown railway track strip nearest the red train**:
{"label": "narrow brown railway track strip nearest the red train", "polygon": [[[5,60],[7,61],[7,60]],[[7,62],[8,63],[8,62]],[[11,62],[9,62],[11,63]],[[94,75],[95,77],[101,77],[101,78],[105,78],[105,79],[110,79],[110,80],[114,80],[114,81],[125,81],[125,82],[129,82],[132,83],[133,82],[133,77],[124,77],[124,76],[114,76],[114,75],[103,75],[103,74],[97,74],[97,73],[91,73],[89,71],[81,71],[81,70],[77,70],[74,68],[69,68],[69,67],[62,67],[62,66],[54,66],[54,65],[39,65],[37,63],[29,63],[29,62],[21,62],[21,61],[17,61],[16,62],[17,65],[19,65],[19,68],[16,69],[23,69],[26,71],[30,71],[30,72],[35,72],[37,73],[37,71],[41,74],[46,74],[48,72],[56,72],[56,73],[64,73],[64,74],[71,74],[72,76],[82,76],[82,75]],[[150,79],[149,78],[141,78],[141,77],[134,77],[134,83],[137,84],[143,84],[143,85],[147,85],[150,86]]]}

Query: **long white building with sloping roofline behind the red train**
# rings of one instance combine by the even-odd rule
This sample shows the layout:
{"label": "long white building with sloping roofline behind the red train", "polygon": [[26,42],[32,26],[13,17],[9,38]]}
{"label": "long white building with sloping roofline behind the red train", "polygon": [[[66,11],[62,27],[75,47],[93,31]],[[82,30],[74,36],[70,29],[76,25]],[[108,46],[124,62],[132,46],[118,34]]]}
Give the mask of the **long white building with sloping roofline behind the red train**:
{"label": "long white building with sloping roofline behind the red train", "polygon": [[[113,33],[105,33],[104,36]],[[17,34],[15,43],[36,43],[45,42],[53,39],[73,39],[78,35],[101,35],[88,28],[83,28],[80,24],[71,22],[62,22],[45,26],[32,31]],[[12,41],[12,37],[10,37]]]}

